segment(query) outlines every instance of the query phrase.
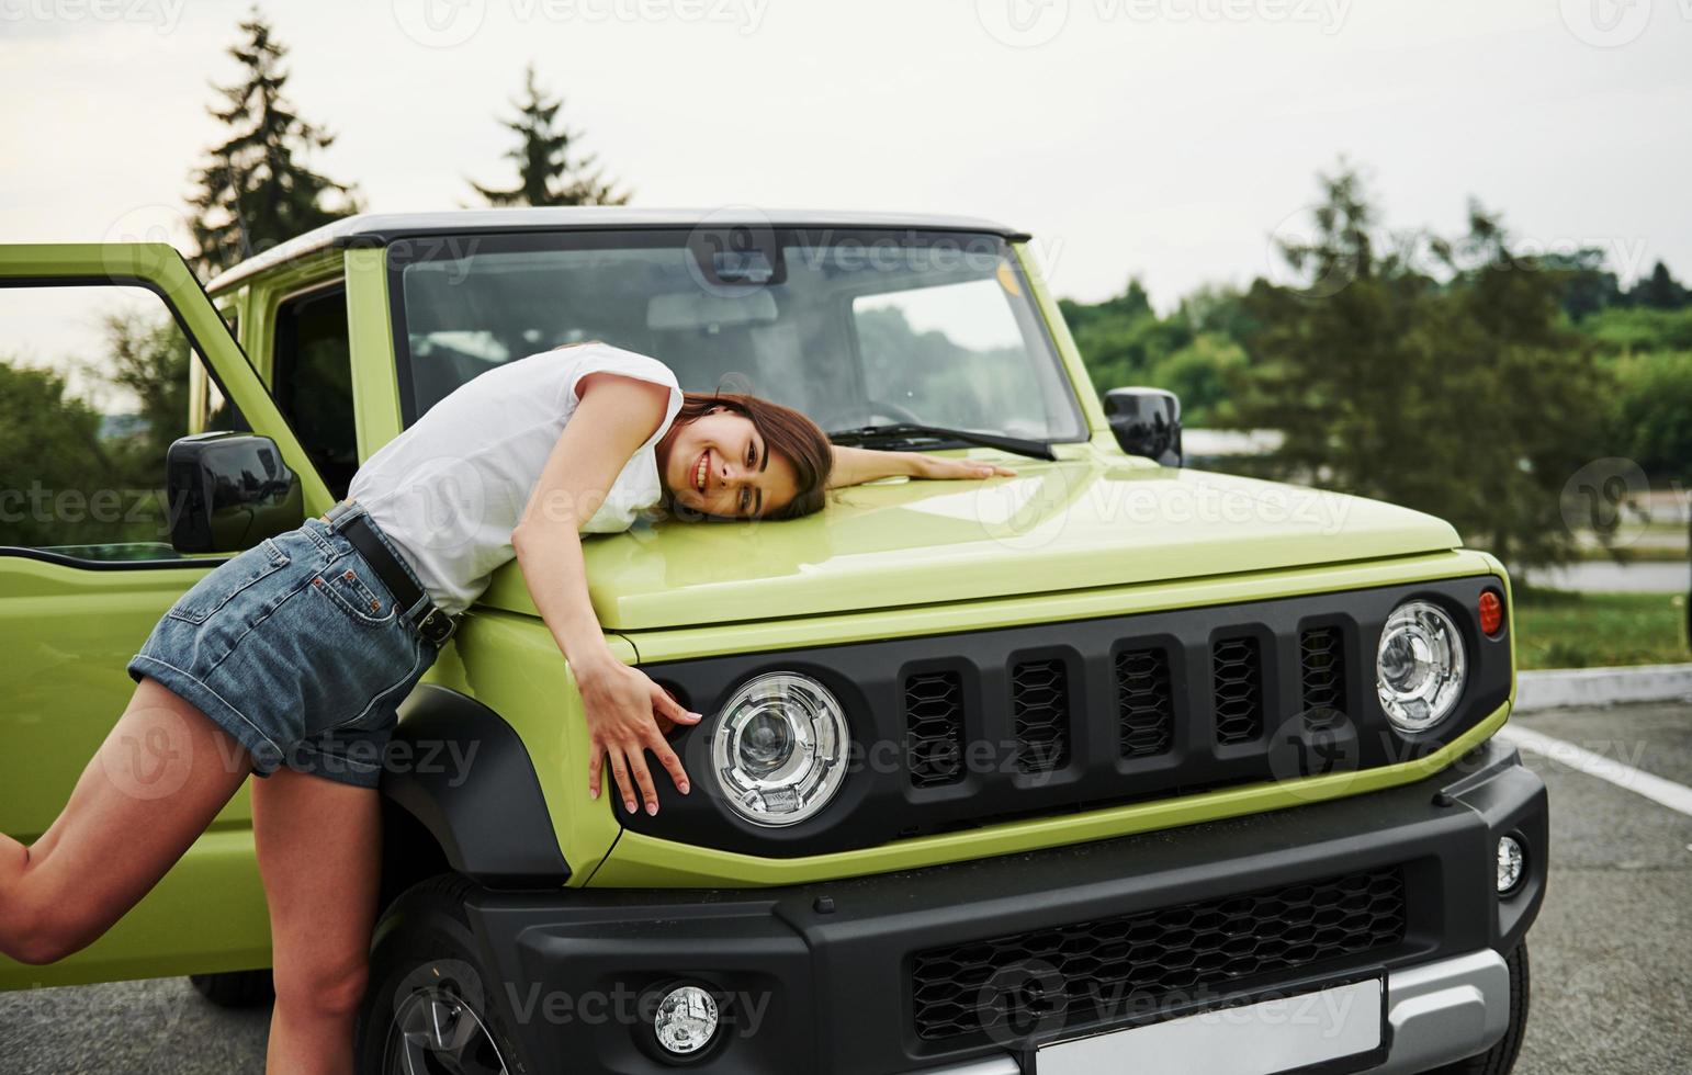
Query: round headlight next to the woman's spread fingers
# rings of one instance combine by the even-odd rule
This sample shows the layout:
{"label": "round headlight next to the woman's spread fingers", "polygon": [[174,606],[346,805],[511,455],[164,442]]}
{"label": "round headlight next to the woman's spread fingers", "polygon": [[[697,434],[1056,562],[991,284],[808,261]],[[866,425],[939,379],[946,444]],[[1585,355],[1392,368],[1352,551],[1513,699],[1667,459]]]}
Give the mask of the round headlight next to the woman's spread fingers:
{"label": "round headlight next to the woman's spread fingers", "polygon": [[846,745],[846,713],[826,686],[770,673],[722,707],[711,761],[734,813],[758,825],[795,825],[841,789]]}

